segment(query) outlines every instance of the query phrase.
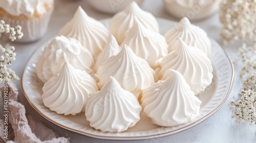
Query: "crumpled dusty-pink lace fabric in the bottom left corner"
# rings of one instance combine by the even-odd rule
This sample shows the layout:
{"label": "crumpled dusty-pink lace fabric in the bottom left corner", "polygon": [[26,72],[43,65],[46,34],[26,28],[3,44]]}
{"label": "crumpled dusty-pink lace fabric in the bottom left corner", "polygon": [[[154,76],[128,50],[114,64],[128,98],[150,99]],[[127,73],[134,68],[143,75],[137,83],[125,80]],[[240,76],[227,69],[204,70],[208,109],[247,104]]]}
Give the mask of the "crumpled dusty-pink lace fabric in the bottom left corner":
{"label": "crumpled dusty-pink lace fabric in the bottom left corner", "polygon": [[[26,117],[25,107],[18,102],[18,91],[15,84],[9,81],[8,86],[8,139],[4,138],[4,121],[0,120],[0,142],[52,143],[69,142],[68,138],[59,137],[32,116]],[[1,88],[3,95],[4,88]],[[0,107],[3,108],[3,107]]]}

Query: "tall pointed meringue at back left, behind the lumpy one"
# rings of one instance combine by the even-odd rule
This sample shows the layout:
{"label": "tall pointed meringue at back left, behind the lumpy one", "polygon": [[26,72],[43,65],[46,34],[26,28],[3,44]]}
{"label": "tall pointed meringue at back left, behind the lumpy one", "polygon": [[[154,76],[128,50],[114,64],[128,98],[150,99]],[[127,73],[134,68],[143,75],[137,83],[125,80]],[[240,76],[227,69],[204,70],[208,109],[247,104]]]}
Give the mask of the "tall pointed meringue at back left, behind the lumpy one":
{"label": "tall pointed meringue at back left, behind the lumpy one", "polygon": [[74,17],[59,31],[58,35],[76,38],[96,59],[108,41],[110,33],[101,22],[88,16],[79,6]]}

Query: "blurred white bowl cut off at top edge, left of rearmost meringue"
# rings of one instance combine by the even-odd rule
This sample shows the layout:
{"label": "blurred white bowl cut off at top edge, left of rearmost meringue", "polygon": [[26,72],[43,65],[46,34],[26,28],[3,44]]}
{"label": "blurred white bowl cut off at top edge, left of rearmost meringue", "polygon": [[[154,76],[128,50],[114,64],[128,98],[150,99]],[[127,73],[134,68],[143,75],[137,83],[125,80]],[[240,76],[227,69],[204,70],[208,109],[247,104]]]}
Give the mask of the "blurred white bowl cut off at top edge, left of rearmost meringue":
{"label": "blurred white bowl cut off at top edge, left of rearmost meringue", "polygon": [[133,1],[141,5],[144,0],[88,0],[90,5],[96,10],[111,14],[123,10]]}

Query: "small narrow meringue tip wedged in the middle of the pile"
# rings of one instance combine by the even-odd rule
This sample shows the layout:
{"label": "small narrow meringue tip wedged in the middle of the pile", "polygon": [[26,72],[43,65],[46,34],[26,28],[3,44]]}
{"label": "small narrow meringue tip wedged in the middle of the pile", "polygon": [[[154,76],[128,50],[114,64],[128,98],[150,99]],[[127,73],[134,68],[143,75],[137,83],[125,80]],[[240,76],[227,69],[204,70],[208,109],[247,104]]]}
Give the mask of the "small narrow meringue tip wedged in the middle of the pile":
{"label": "small narrow meringue tip wedged in the middle of the pile", "polygon": [[99,65],[107,60],[108,58],[117,55],[120,52],[121,48],[118,45],[116,38],[111,35],[108,43],[106,43],[103,51],[99,54],[95,64],[94,64],[94,71],[97,72]]}

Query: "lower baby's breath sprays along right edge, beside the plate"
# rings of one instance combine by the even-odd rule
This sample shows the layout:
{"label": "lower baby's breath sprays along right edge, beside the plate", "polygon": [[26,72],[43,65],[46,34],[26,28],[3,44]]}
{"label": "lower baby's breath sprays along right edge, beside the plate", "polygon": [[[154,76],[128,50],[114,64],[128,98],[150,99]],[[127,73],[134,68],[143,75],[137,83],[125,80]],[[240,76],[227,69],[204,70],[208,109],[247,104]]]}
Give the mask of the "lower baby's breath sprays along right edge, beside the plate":
{"label": "lower baby's breath sprays along right edge, beside the plate", "polygon": [[248,122],[253,125],[256,124],[256,41],[252,45],[243,43],[237,54],[243,65],[239,73],[243,90],[240,92],[241,99],[232,100],[228,105],[232,108],[236,123]]}

